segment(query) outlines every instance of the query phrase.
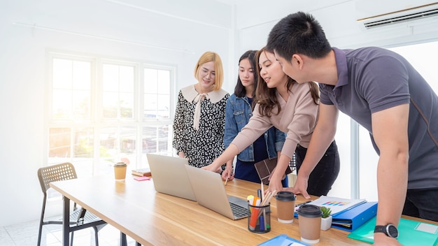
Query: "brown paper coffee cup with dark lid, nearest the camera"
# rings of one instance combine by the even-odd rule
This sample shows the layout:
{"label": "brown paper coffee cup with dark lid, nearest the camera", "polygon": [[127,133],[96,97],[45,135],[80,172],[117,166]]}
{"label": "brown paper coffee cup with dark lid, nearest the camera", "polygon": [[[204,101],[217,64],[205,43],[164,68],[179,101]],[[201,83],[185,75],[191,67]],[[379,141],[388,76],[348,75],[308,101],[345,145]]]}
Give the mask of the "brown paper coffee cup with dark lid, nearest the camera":
{"label": "brown paper coffee cup with dark lid, nearest the camera", "polygon": [[302,205],[297,210],[299,235],[304,243],[319,243],[323,212],[317,205]]}

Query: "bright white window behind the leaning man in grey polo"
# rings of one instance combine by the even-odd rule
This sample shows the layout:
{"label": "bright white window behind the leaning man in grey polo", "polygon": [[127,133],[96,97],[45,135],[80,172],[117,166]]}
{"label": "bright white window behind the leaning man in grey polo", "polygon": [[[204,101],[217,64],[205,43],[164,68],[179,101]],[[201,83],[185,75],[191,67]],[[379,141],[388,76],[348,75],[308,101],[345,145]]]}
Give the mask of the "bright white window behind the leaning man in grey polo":
{"label": "bright white window behind the leaning man in grey polo", "polygon": [[[406,58],[438,94],[438,73],[435,72],[438,41],[399,46],[389,48],[389,50],[393,50]],[[358,127],[358,138],[351,138],[352,125],[353,129]],[[341,156],[341,171],[328,196],[351,197],[352,189],[356,185],[359,188],[359,194],[357,194],[358,197],[352,198],[366,198],[367,201],[377,201],[376,171],[379,156],[372,146],[369,132],[362,126],[358,126],[357,123],[343,113],[339,113],[337,129],[335,139]],[[352,152],[351,141],[358,141],[358,153]],[[353,160],[351,157],[353,157]],[[351,164],[356,166],[355,159],[359,160],[359,180],[355,180],[355,175],[351,174]],[[355,183],[353,187],[352,182]]]}

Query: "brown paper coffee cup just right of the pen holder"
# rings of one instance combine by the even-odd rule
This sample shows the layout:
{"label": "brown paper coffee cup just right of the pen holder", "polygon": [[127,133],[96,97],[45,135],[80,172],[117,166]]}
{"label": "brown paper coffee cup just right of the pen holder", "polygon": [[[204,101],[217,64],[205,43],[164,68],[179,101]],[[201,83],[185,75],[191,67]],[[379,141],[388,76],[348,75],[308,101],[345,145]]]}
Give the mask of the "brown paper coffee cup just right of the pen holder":
{"label": "brown paper coffee cup just right of the pen holder", "polygon": [[278,191],[276,196],[278,222],[290,224],[294,219],[295,194],[290,191]]}

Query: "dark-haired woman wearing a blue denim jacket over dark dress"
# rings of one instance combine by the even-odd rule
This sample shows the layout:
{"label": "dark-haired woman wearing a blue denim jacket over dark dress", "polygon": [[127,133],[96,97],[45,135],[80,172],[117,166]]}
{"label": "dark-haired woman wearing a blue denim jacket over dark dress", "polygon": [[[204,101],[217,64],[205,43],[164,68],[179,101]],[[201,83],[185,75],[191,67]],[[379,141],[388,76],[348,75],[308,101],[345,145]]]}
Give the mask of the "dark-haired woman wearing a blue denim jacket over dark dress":
{"label": "dark-haired woman wearing a blue denim jacket over dark dress", "polygon": [[[257,50],[248,50],[239,59],[239,77],[234,88],[234,94],[227,99],[225,108],[225,149],[253,115],[253,98],[257,87],[257,80],[255,80],[256,53]],[[257,138],[253,144],[237,155],[234,177],[260,183],[254,164],[267,158],[276,158],[283,148],[284,141],[285,133],[272,126]],[[233,159],[227,161],[227,168],[222,172],[222,178],[226,180],[229,177],[228,174],[231,175],[232,171]],[[233,176],[229,179],[232,178]],[[282,183],[283,187],[288,187],[287,178]]]}

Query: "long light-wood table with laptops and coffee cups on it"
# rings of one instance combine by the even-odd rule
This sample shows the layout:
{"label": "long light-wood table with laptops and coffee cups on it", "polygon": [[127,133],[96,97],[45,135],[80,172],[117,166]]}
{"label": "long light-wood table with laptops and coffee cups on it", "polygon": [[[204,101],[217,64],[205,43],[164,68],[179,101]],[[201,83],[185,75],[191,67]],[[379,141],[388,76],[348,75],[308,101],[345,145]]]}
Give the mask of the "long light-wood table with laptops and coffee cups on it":
{"label": "long light-wood table with laptops and coffee cups on it", "polygon": [[[292,224],[277,221],[275,198],[271,200],[271,231],[259,234],[248,231],[247,219],[234,221],[195,201],[157,193],[152,180],[139,182],[130,175],[125,182],[115,182],[108,175],[52,182],[50,187],[64,196],[64,211],[69,211],[70,200],[75,201],[141,245],[257,245],[283,233],[300,238],[298,219]],[[246,198],[256,195],[260,184],[235,179],[225,187],[227,194]],[[303,201],[297,196],[297,203]],[[64,216],[64,223],[68,219]],[[333,228],[321,231],[316,245],[369,245],[347,234]],[[69,245],[69,233],[63,238],[63,245]]]}

